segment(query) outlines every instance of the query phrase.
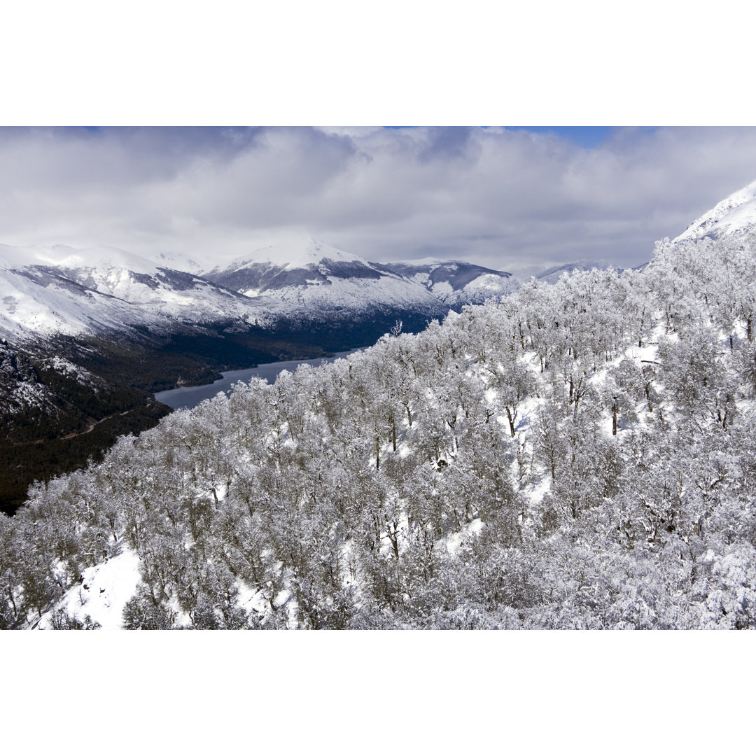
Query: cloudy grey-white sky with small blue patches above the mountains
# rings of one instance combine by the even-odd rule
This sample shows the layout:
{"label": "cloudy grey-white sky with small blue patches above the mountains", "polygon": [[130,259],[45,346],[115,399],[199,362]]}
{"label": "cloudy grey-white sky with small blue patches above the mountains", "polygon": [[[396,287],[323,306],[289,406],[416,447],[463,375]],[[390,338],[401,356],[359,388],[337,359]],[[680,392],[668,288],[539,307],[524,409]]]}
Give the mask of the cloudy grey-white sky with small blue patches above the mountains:
{"label": "cloudy grey-white sky with small blue patches above the mountains", "polygon": [[638,265],[756,179],[756,129],[0,128],[0,243],[221,262],[293,234],[531,274]]}

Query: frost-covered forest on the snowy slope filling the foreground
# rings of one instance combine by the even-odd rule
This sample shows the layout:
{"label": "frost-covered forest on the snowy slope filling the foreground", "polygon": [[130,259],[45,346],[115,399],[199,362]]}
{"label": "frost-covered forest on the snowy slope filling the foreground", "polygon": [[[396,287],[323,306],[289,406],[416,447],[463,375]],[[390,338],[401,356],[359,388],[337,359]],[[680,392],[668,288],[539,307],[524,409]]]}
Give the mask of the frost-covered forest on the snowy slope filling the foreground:
{"label": "frost-covered forest on the snowy slope filling the foreground", "polygon": [[754,627],[754,326],[756,233],[665,240],[237,384],[2,516],[0,627]]}

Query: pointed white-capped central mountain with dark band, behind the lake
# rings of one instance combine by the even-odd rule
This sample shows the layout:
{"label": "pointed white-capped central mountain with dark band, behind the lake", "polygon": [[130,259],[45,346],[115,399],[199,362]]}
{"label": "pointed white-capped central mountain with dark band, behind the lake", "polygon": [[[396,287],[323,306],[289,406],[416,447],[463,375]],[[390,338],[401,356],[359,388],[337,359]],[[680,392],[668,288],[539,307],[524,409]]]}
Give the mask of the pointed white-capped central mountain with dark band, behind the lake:
{"label": "pointed white-capped central mountain with dark band, behind the lake", "polygon": [[245,296],[269,296],[329,319],[348,312],[413,311],[437,317],[448,311],[414,280],[311,238],[256,250],[203,275]]}

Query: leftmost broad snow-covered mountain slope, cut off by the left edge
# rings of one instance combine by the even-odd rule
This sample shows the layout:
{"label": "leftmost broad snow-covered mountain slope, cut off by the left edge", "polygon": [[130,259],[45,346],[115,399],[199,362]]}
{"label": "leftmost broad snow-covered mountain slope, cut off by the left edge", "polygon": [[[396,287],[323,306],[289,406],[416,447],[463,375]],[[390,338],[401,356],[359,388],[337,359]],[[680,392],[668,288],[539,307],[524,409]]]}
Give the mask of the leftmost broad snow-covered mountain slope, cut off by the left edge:
{"label": "leftmost broad snow-covered mountain slope, cut off by the left edge", "polygon": [[268,324],[276,299],[249,299],[194,274],[114,247],[0,245],[0,336],[165,332],[177,324]]}

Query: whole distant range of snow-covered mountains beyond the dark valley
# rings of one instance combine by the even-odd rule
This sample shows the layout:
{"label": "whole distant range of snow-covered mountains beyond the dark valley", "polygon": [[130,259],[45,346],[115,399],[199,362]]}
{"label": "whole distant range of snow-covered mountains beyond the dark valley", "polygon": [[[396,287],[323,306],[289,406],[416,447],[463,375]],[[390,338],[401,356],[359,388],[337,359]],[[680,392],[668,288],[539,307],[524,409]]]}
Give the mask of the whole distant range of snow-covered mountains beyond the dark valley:
{"label": "whole distant range of snow-covered mountains beyond the dark valley", "polygon": [[28,342],[224,322],[271,333],[355,319],[422,324],[516,288],[510,274],[467,262],[373,263],[311,238],[200,271],[191,260],[153,262],[110,246],[0,245],[0,336]]}

